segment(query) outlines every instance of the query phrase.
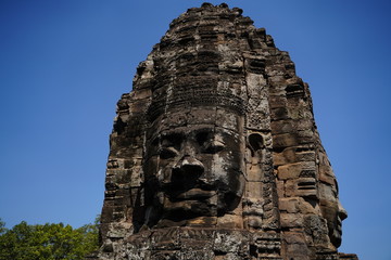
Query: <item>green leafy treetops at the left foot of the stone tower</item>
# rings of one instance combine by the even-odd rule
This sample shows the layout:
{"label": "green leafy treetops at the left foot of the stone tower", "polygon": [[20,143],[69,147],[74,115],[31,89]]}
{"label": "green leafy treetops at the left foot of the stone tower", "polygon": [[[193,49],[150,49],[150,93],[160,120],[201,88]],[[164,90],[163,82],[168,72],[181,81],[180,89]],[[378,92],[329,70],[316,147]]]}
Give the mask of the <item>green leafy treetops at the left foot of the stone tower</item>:
{"label": "green leafy treetops at the left foot of the stone tower", "polygon": [[81,260],[98,246],[97,221],[79,229],[22,221],[7,230],[0,219],[0,260]]}

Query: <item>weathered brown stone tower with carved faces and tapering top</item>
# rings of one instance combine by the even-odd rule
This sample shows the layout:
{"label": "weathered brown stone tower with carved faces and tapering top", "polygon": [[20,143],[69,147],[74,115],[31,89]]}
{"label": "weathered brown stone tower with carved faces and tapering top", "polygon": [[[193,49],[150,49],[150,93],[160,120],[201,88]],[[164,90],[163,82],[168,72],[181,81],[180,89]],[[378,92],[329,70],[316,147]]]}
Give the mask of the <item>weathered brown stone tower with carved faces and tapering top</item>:
{"label": "weathered brown stone tower with carved faces and tapering top", "polygon": [[357,259],[308,86],[238,8],[174,20],[117,104],[101,260]]}

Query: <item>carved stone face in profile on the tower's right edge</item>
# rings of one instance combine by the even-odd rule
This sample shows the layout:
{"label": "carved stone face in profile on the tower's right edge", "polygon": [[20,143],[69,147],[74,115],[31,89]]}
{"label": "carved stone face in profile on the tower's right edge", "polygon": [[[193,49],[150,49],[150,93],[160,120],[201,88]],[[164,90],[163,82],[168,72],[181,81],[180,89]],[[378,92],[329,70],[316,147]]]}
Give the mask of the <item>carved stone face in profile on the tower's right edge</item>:
{"label": "carved stone face in profile on the tower's right edge", "polygon": [[339,247],[342,237],[342,221],[348,218],[348,212],[338,199],[337,184],[319,183],[319,199],[321,214],[327,220],[330,242]]}

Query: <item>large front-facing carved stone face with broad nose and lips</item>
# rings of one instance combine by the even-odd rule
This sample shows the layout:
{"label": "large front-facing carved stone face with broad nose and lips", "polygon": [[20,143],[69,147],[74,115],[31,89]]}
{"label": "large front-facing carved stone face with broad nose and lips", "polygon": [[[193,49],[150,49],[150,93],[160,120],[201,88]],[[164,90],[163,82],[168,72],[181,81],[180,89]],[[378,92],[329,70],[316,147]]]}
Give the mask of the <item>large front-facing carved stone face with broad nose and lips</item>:
{"label": "large front-facing carved stone face with broad nose and lips", "polygon": [[163,127],[154,134],[144,164],[154,222],[217,217],[237,207],[244,186],[242,134],[223,125]]}

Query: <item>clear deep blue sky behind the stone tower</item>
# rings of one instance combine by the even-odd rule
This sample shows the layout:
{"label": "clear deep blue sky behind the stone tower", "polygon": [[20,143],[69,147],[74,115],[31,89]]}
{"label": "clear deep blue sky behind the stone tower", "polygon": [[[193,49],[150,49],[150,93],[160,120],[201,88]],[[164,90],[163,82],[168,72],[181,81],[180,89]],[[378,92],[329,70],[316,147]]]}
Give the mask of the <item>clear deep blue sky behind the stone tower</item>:
{"label": "clear deep blue sky behind the stone tower", "polygon": [[[220,1],[210,1],[220,3]],[[391,1],[227,0],[288,51],[349,211],[344,252],[391,260]],[[100,213],[115,104],[199,0],[0,0],[0,218]]]}

